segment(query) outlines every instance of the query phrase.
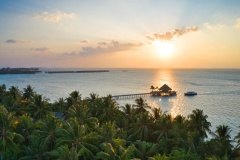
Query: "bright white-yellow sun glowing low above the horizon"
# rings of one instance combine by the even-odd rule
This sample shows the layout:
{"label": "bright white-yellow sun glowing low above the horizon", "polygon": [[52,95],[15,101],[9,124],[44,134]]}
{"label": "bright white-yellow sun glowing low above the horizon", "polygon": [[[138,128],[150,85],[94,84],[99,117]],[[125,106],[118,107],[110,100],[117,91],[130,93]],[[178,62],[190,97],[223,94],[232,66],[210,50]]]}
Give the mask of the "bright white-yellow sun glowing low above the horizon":
{"label": "bright white-yellow sun glowing low above the horizon", "polygon": [[169,57],[173,50],[174,46],[171,42],[160,42],[160,41],[154,41],[154,47],[156,51],[164,57]]}

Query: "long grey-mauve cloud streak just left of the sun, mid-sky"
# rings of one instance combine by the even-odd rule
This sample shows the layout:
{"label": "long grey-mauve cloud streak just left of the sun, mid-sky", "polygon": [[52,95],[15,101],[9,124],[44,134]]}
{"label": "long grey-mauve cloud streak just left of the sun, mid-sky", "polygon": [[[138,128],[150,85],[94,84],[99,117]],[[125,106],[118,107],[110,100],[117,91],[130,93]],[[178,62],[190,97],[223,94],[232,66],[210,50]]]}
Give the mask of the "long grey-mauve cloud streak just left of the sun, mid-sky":
{"label": "long grey-mauve cloud streak just left of the sun, mid-sky", "polygon": [[111,53],[117,51],[132,50],[142,45],[143,45],[142,43],[120,43],[118,41],[112,40],[110,42],[98,42],[98,45],[96,47],[92,46],[82,47],[82,50],[79,52],[79,54],[92,55]]}

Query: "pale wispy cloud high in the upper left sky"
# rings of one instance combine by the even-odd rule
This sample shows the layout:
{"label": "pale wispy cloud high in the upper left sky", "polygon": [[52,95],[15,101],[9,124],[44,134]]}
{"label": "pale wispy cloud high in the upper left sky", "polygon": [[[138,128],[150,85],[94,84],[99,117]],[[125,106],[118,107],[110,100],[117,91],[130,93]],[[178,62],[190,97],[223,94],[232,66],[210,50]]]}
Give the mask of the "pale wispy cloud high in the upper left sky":
{"label": "pale wispy cloud high in the upper left sky", "polygon": [[34,18],[47,22],[59,22],[64,18],[73,18],[74,16],[74,13],[64,13],[61,11],[56,11],[54,13],[43,12],[41,14],[36,14],[34,15]]}

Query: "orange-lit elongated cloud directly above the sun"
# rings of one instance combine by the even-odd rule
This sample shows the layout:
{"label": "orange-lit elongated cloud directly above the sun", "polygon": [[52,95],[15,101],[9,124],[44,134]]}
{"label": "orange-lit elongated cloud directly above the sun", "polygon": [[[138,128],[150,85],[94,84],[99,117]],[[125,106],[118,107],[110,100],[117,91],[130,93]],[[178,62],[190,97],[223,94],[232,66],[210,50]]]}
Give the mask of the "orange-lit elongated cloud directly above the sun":
{"label": "orange-lit elongated cloud directly above the sun", "polygon": [[170,41],[175,37],[181,37],[184,34],[187,34],[189,32],[197,32],[199,31],[198,27],[187,27],[187,28],[183,28],[183,29],[174,29],[170,32],[166,32],[163,34],[159,34],[159,33],[153,33],[151,35],[146,35],[146,38],[154,41],[154,40],[163,40],[163,41]]}

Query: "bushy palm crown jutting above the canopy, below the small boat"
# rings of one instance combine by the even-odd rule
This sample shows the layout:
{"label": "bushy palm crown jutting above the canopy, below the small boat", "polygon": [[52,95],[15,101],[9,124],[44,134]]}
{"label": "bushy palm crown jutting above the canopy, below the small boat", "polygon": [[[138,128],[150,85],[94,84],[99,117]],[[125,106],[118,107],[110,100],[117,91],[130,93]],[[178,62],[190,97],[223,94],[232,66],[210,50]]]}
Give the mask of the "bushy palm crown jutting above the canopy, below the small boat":
{"label": "bushy palm crown jutting above the canopy, below the small boat", "polygon": [[206,132],[210,132],[211,123],[207,121],[208,116],[203,114],[203,110],[193,110],[188,118],[189,129],[191,131],[197,130],[202,137],[207,137]]}

